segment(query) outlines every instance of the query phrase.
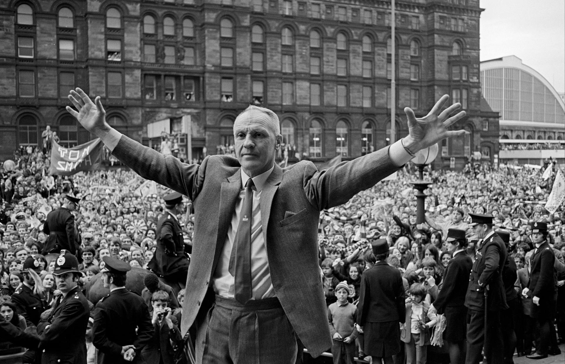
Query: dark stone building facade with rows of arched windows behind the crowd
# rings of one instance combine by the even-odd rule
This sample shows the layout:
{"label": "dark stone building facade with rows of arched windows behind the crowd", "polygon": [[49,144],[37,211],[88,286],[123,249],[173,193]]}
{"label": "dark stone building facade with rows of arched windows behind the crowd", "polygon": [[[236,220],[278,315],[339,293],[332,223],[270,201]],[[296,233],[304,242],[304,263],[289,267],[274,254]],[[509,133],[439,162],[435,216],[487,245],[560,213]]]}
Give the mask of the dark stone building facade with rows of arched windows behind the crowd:
{"label": "dark stone building facade with rows of arched windows behind the crowd", "polygon": [[[91,138],[65,111],[80,86],[108,122],[156,146],[155,125],[181,133],[195,160],[229,151],[249,104],[275,111],[289,160],[352,159],[390,139],[390,1],[0,1],[0,159]],[[449,94],[471,131],[444,142],[436,167],[498,152],[498,114],[481,107],[479,0],[396,2],[397,136],[403,108],[424,116]],[[188,123],[188,127],[186,126]],[[182,134],[186,133],[186,134]],[[223,146],[223,148],[220,148]],[[184,148],[184,149],[183,149]],[[186,150],[189,148],[189,150]],[[485,152],[487,151],[487,152]]]}

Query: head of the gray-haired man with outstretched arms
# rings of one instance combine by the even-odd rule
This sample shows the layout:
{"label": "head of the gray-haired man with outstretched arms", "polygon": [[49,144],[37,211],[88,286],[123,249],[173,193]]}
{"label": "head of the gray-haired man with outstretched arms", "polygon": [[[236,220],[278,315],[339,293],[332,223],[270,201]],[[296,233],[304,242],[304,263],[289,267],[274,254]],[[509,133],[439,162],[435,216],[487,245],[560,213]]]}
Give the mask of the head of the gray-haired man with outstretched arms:
{"label": "head of the gray-haired man with outstretched arms", "polygon": [[282,136],[275,135],[271,125],[270,117],[258,110],[246,111],[234,122],[237,160],[249,177],[267,172],[275,162]]}

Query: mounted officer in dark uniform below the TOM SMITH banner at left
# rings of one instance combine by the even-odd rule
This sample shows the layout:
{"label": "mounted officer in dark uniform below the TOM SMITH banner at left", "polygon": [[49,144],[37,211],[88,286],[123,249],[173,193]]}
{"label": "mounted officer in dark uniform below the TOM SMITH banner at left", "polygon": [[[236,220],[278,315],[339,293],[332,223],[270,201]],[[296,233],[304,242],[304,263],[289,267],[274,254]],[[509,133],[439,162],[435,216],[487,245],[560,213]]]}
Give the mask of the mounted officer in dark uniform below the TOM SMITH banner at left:
{"label": "mounted officer in dark uniform below the TOM SMITH banner at left", "polygon": [[66,249],[72,255],[77,254],[78,236],[75,231],[75,216],[72,212],[79,207],[79,198],[67,195],[62,207],[47,214],[43,232],[47,234],[42,255],[60,253]]}

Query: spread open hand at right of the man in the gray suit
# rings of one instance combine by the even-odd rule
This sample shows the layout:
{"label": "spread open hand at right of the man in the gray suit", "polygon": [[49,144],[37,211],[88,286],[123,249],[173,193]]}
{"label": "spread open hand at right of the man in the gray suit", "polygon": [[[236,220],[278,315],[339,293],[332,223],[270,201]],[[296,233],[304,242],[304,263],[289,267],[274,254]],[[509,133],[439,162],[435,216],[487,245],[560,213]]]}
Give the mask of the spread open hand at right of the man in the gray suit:
{"label": "spread open hand at right of the man in the gray suit", "polygon": [[469,134],[466,130],[447,130],[450,125],[465,116],[464,111],[460,111],[454,116],[449,116],[461,107],[460,103],[454,103],[444,111],[441,111],[448,99],[448,95],[443,95],[428,115],[421,118],[416,118],[411,108],[406,107],[404,109],[408,119],[408,136],[404,138],[404,145],[412,153],[432,146],[442,139]]}

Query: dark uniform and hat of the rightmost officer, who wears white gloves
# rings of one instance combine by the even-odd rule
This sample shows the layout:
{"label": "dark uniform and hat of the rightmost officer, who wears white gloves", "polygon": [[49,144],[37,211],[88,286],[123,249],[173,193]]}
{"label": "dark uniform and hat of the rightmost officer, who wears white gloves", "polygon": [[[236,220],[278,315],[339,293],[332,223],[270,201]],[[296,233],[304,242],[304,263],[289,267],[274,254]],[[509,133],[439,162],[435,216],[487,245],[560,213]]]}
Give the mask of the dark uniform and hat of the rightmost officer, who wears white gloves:
{"label": "dark uniform and hat of the rightmost officer, who wears white gloves", "polygon": [[[546,232],[547,223],[533,222],[532,233]],[[537,244],[536,244],[537,245]],[[531,359],[547,357],[550,344],[550,325],[555,318],[557,301],[555,300],[555,288],[557,278],[554,274],[555,255],[547,240],[534,248],[530,263],[530,279],[528,283],[528,297],[539,297],[540,304],[532,305],[530,316],[536,322],[537,336],[536,352],[527,356]],[[555,335],[555,334],[554,334]]]}

